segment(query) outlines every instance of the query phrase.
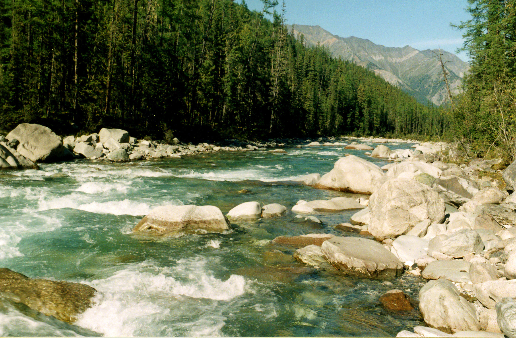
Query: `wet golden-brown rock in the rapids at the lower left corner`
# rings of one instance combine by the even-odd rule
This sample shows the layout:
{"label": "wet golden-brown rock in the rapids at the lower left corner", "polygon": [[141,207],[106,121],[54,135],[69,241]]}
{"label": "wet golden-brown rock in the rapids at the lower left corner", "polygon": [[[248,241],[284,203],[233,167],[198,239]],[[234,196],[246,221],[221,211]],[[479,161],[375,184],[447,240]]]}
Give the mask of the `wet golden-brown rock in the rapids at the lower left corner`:
{"label": "wet golden-brown rock in the rapids at the lower left corner", "polygon": [[47,316],[72,323],[79,314],[91,308],[95,289],[86,284],[31,279],[0,268],[0,295]]}

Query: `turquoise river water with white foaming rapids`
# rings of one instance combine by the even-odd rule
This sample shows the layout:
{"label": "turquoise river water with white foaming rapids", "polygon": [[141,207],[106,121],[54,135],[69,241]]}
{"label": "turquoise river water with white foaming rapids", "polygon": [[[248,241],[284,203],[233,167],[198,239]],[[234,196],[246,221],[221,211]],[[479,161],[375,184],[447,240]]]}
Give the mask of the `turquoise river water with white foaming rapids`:
{"label": "turquoise river water with white foaming rapids", "polygon": [[334,228],[356,211],[321,213],[323,224],[315,227],[291,222],[289,211],[281,218],[233,221],[224,234],[132,234],[159,205],[214,205],[227,213],[248,201],[290,210],[299,199],[353,196],[285,181],[325,174],[344,153],[367,158],[342,146],[286,150],[124,164],[78,160],[0,175],[0,267],[99,291],[76,325],[0,303],[0,334],[395,336],[421,325],[416,310],[388,311],[378,298],[398,288],[417,300],[422,279],[405,274],[390,284],[349,278],[296,262],[294,248],[270,243],[280,235],[357,236]]}

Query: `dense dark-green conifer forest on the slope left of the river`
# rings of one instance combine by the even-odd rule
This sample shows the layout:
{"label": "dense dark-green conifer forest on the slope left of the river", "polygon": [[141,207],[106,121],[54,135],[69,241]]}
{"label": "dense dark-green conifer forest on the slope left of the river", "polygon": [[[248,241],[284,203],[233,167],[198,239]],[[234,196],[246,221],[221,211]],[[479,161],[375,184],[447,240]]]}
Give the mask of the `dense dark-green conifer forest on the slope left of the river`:
{"label": "dense dark-green conifer forest on the slope left of the river", "polygon": [[262,1],[0,0],[0,125],[165,140],[443,132],[440,107],[305,47],[284,4]]}

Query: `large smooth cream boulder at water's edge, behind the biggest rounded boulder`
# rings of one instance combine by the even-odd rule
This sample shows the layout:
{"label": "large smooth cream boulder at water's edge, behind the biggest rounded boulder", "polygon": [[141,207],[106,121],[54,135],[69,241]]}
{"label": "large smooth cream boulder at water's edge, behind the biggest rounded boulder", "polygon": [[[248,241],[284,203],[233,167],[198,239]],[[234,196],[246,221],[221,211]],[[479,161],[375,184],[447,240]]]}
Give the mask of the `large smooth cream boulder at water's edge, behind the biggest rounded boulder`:
{"label": "large smooth cream boulder at water's edge, behind the biggest rounded boulder", "polygon": [[333,169],[321,177],[315,188],[372,194],[373,183],[381,176],[383,171],[376,164],[349,155],[338,159]]}

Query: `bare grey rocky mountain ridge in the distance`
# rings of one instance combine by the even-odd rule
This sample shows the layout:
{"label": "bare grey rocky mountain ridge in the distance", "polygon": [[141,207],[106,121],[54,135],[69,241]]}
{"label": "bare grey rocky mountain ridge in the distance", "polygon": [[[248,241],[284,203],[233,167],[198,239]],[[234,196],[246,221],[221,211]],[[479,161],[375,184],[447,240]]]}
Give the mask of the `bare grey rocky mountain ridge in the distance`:
{"label": "bare grey rocky mountain ridge in the distance", "polygon": [[[292,26],[288,26],[289,32],[291,29]],[[436,54],[430,50],[418,51],[409,45],[401,48],[385,47],[354,36],[341,38],[319,26],[294,25],[294,34],[298,33],[304,35],[307,45],[320,43],[327,46],[333,57],[340,56],[373,70],[385,81],[400,87],[422,103],[430,100],[440,105],[448,98],[441,64]],[[438,49],[433,51],[439,53]],[[455,54],[443,50],[441,53],[449,73],[451,92],[457,94],[464,73],[470,65]]]}

